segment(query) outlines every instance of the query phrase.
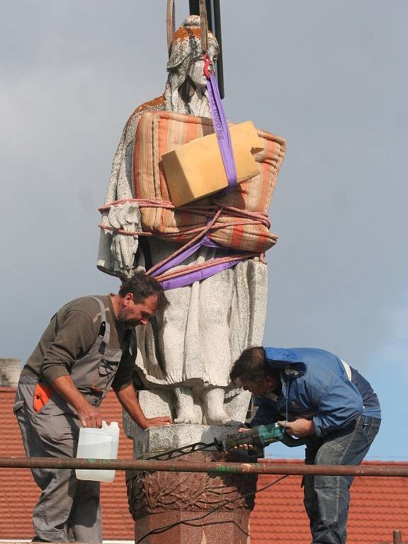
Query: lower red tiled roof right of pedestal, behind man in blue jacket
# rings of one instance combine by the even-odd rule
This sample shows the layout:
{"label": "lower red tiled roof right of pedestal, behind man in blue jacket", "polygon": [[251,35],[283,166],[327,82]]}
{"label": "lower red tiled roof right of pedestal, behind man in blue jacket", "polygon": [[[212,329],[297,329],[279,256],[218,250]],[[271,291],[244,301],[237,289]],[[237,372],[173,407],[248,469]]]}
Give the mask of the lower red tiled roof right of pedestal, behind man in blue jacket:
{"label": "lower red tiled roof right of pedestal, behind man in blue jacket", "polygon": [[[298,463],[299,460],[265,460]],[[368,461],[364,465],[393,465]],[[408,465],[408,463],[397,463]],[[261,475],[258,489],[278,479]],[[256,495],[251,514],[251,544],[303,544],[310,542],[309,522],[303,509],[301,476],[289,476]],[[351,487],[348,513],[349,544],[392,542],[392,531],[402,531],[408,541],[408,478],[357,476]]]}

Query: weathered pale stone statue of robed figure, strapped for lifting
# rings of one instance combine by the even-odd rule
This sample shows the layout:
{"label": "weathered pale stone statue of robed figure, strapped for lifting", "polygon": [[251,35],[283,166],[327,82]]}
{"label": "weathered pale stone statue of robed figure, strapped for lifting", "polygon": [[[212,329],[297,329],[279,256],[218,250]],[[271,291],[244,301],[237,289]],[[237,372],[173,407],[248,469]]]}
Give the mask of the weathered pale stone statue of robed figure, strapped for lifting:
{"label": "weathered pale stone statue of robed figure, strapped for lifting", "polygon": [[[215,61],[218,44],[212,34],[208,36],[208,52]],[[107,204],[132,198],[133,140],[142,113],[164,110],[210,117],[203,64],[200,18],[189,16],[174,34],[164,95],[142,104],[125,125],[113,159]],[[142,230],[137,203],[119,202],[102,215],[105,227]],[[119,234],[108,228],[101,229],[98,268],[115,276],[132,276],[180,247],[157,237],[142,240],[136,234]],[[202,246],[183,265],[226,252]],[[171,304],[164,314],[147,327],[137,328],[137,373],[148,390],[158,394],[171,390],[169,404],[176,423],[242,421],[250,395],[230,383],[229,369],[244,348],[262,344],[267,282],[264,263],[259,259],[242,261],[200,282],[166,291]],[[227,410],[237,395],[241,397],[239,416]]]}

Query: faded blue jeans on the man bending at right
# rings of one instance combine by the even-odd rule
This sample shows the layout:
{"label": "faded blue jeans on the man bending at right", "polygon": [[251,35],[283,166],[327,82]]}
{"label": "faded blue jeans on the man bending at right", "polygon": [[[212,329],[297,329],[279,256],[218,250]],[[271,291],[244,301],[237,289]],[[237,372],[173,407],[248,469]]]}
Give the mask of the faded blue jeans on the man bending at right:
{"label": "faded blue jeans on the man bending at right", "polygon": [[[307,465],[359,465],[380,429],[380,419],[359,416],[344,429],[310,438]],[[346,543],[349,489],[353,476],[304,477],[304,504],[310,519],[312,544]]]}

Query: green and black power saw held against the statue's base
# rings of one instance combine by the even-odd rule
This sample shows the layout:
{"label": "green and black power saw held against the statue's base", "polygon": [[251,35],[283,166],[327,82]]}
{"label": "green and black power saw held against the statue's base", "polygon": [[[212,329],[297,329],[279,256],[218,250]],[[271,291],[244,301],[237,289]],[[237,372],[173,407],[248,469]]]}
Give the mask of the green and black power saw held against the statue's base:
{"label": "green and black power saw held against the statue's base", "polygon": [[196,451],[215,449],[229,452],[236,450],[239,446],[244,446],[244,444],[254,446],[253,448],[248,449],[248,453],[249,455],[256,455],[259,453],[259,450],[266,448],[266,446],[269,446],[269,444],[272,444],[273,442],[282,442],[285,446],[289,446],[290,448],[305,444],[304,439],[294,438],[285,433],[285,429],[277,423],[271,423],[269,425],[259,425],[242,433],[229,434],[223,441],[215,438],[214,442],[211,443],[196,442],[194,444],[189,444],[188,446],[183,446],[182,448],[164,451],[157,455],[149,455],[148,457],[149,459],[169,460]]}

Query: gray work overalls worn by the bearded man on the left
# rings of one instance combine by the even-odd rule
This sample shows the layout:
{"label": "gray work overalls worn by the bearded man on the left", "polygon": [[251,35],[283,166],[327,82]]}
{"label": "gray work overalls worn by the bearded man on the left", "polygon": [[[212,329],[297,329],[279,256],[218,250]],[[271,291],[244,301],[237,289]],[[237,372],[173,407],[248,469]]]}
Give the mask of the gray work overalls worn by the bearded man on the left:
{"label": "gray work overalls worn by the bearded man on the left", "polygon": [[[101,307],[101,328],[95,344],[72,365],[72,380],[86,400],[98,407],[111,388],[122,349],[109,348],[110,324]],[[14,413],[28,457],[77,455],[81,422],[77,413],[57,392],[39,412],[34,412],[33,395],[38,380],[22,376],[18,382]],[[47,542],[102,542],[99,482],[77,480],[74,470],[32,469],[41,489],[33,511],[35,538]]]}

